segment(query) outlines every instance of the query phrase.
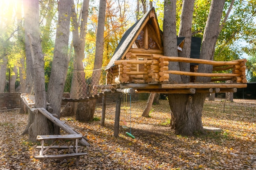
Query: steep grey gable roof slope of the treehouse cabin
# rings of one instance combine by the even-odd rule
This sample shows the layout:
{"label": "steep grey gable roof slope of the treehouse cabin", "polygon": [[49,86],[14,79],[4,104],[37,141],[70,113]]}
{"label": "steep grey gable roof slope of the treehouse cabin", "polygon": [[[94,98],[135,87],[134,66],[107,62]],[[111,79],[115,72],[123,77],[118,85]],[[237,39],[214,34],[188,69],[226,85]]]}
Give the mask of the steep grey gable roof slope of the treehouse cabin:
{"label": "steep grey gable roof slope of the treehouse cabin", "polygon": [[[130,46],[130,44],[135,41],[135,37],[137,36],[137,33],[139,31],[139,29],[141,28],[141,26],[144,24],[144,22],[146,21],[146,19],[149,17],[150,13],[154,12],[155,16],[155,8],[151,8],[141,19],[137,20],[137,22],[135,22],[135,24],[133,24],[123,35],[123,37],[121,38],[115,53],[113,54],[110,62],[108,63],[108,65],[106,66],[106,70],[109,69],[112,66],[115,66],[114,62],[117,60],[120,60],[122,56],[124,56],[124,54],[126,53],[128,47]],[[158,22],[157,22],[158,25]],[[158,25],[158,30],[159,30],[159,25]]]}

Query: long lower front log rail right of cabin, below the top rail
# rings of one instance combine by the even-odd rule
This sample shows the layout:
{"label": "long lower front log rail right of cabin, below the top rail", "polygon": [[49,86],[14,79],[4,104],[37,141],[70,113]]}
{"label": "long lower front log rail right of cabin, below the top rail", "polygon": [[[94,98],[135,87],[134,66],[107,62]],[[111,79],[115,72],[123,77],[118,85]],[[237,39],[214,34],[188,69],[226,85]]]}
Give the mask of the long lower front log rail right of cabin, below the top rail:
{"label": "long lower front log rail right of cabin, below the top rail", "polygon": [[235,77],[240,76],[239,73],[195,73],[186,71],[164,71],[164,73],[178,74],[178,75],[189,75],[189,76],[202,76],[202,77]]}

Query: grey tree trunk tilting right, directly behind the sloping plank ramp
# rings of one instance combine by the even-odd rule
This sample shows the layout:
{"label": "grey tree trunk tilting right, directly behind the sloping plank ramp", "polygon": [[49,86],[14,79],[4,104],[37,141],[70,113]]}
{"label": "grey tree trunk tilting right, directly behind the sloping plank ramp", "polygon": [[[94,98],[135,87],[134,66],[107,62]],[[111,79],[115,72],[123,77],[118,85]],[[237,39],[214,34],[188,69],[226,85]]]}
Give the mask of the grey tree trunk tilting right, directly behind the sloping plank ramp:
{"label": "grey tree trunk tilting right, directly behind the sloping plank ramp", "polygon": [[[58,26],[54,46],[51,77],[49,79],[47,101],[53,108],[53,113],[60,118],[61,102],[68,67],[68,43],[70,36],[70,16],[72,3],[62,0],[58,3]],[[58,126],[53,124],[53,134],[59,134]]]}

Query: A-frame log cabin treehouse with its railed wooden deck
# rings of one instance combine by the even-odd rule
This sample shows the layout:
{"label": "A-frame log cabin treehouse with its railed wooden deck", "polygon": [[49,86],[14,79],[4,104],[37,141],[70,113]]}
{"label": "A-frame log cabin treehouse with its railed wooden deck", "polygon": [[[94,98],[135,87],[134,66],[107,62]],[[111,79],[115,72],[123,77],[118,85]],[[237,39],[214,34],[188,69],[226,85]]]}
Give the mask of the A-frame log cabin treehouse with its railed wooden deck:
{"label": "A-frame log cabin treehouse with its railed wooden deck", "polygon": [[[184,38],[177,38],[178,52],[182,51],[183,43]],[[246,59],[229,62],[200,60],[200,45],[200,38],[192,38],[191,58],[164,56],[162,31],[159,29],[155,9],[152,8],[124,33],[106,66],[106,82],[117,84],[119,88],[134,88],[136,93],[236,92],[236,88],[247,86]],[[191,70],[168,70],[169,62],[188,62]],[[197,73],[198,64],[212,65],[213,73]],[[189,75],[190,83],[171,83],[169,74]],[[197,76],[211,77],[211,82],[196,82]]]}

